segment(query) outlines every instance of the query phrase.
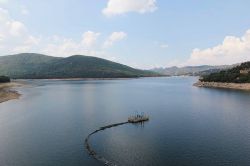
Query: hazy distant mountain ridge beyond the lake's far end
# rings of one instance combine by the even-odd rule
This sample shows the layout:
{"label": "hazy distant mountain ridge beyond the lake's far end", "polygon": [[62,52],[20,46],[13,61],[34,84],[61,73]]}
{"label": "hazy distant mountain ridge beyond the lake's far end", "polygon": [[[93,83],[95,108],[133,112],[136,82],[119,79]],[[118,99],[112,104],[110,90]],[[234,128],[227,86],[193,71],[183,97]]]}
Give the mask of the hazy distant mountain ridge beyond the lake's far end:
{"label": "hazy distant mountain ridge beyond the lake's far end", "polygon": [[155,68],[151,71],[160,73],[162,75],[168,76],[181,76],[181,75],[188,75],[188,76],[200,76],[200,75],[207,75],[213,72],[218,72],[221,70],[229,69],[234,67],[235,65],[222,65],[222,66],[185,66],[185,67],[167,67],[167,68]]}

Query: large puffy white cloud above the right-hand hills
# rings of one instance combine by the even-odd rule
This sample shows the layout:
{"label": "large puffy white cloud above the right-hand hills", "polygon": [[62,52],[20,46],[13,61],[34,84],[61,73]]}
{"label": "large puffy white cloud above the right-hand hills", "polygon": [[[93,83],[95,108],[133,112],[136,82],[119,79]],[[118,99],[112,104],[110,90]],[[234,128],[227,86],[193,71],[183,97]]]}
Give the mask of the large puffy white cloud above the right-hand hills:
{"label": "large puffy white cloud above the right-hand hills", "polygon": [[250,60],[250,30],[242,37],[226,36],[223,42],[207,49],[194,49],[185,64],[188,65],[222,65]]}

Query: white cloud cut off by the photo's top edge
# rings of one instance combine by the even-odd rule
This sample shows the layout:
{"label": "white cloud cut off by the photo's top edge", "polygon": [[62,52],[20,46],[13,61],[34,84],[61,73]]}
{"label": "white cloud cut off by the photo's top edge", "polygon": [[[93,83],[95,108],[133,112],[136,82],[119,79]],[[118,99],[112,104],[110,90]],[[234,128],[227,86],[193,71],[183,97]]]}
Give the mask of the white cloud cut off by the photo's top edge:
{"label": "white cloud cut off by the photo's top edge", "polygon": [[128,12],[143,14],[154,12],[156,9],[156,0],[109,0],[102,13],[106,16],[121,15]]}

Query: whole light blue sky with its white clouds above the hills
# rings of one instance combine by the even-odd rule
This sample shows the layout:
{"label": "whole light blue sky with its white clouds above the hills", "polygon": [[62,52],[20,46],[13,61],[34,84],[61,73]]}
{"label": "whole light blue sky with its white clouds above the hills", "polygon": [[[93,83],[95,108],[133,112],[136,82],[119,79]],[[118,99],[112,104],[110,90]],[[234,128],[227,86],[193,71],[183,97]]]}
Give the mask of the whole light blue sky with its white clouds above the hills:
{"label": "whole light blue sky with its white clouds above the hills", "polygon": [[0,0],[0,54],[85,54],[144,69],[232,64],[250,60],[249,6],[249,0]]}

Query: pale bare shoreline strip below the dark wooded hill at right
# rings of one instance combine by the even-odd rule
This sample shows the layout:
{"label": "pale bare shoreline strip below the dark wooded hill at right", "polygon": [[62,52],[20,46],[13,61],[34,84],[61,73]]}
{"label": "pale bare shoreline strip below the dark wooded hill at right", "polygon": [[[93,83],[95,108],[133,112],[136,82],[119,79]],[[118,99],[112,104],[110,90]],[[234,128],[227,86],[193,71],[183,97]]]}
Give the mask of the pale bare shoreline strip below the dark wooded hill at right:
{"label": "pale bare shoreline strip below the dark wooded hill at right", "polygon": [[205,88],[220,88],[220,89],[233,89],[250,91],[250,83],[222,83],[222,82],[201,82],[198,81],[193,84],[196,87]]}

